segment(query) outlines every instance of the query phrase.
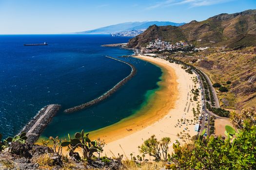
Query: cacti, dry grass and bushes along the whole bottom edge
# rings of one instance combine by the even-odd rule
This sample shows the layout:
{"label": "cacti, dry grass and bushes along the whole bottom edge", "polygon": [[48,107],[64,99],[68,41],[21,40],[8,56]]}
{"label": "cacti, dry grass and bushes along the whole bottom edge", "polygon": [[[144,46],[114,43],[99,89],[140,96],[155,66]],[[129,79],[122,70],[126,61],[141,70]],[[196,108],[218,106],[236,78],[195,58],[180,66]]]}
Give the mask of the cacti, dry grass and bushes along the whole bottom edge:
{"label": "cacti, dry grass and bushes along the whole bottom edge", "polygon": [[[154,135],[146,139],[139,152],[142,157],[137,158],[131,154],[131,160],[122,160],[123,156],[109,158],[100,156],[104,142],[90,140],[89,134],[82,130],[74,135],[68,135],[68,140],[50,137],[43,140],[39,153],[28,157],[37,165],[35,169],[45,170],[83,170],[83,169],[109,169],[109,170],[255,170],[256,169],[256,109],[247,108],[239,113],[232,112],[230,119],[236,130],[226,126],[224,136],[189,136],[181,133],[178,137],[182,144],[176,141],[173,144],[173,153],[168,153],[171,139],[163,137],[158,140]],[[4,169],[15,169],[17,163],[6,159],[6,153],[17,154],[20,158],[26,157],[26,134],[8,137],[0,141],[0,166]],[[2,135],[0,135],[1,139]],[[48,147],[49,142],[52,143]],[[14,146],[21,147],[17,152]],[[35,145],[36,146],[36,145]],[[48,148],[48,149],[47,149]],[[42,151],[47,149],[47,153]],[[62,150],[66,150],[65,154]],[[22,152],[21,152],[22,151]],[[33,149],[33,152],[36,152]],[[8,153],[8,154],[9,154]],[[144,159],[145,155],[153,156],[154,161]],[[9,155],[10,156],[10,155]],[[22,159],[21,159],[22,160]],[[25,159],[26,161],[26,159]],[[25,164],[26,165],[26,164]],[[21,168],[22,169],[22,168]]]}

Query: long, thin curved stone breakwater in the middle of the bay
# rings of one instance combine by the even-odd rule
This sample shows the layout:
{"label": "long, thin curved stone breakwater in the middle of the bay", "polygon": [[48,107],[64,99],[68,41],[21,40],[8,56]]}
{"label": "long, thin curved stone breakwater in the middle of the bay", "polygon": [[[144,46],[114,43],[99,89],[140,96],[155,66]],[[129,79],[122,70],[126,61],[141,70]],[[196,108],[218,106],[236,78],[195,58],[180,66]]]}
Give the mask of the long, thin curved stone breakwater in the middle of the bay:
{"label": "long, thin curved stone breakwater in the middle of the bay", "polygon": [[101,102],[101,101],[107,99],[110,95],[112,95],[113,93],[115,93],[115,92],[118,90],[118,88],[120,88],[122,85],[124,85],[125,83],[127,83],[127,82],[136,74],[137,69],[136,69],[132,64],[127,63],[127,62],[122,61],[122,60],[118,60],[118,59],[113,58],[113,57],[110,57],[110,56],[107,56],[107,57],[108,57],[108,58],[111,58],[111,59],[113,59],[113,60],[117,60],[117,61],[119,61],[119,62],[122,62],[122,63],[127,64],[128,66],[130,66],[130,67],[132,68],[131,73],[130,73],[127,77],[125,77],[123,80],[121,80],[117,85],[115,85],[113,88],[111,88],[110,90],[108,90],[107,92],[105,92],[103,95],[99,96],[98,98],[96,98],[96,99],[94,99],[94,100],[92,100],[92,101],[90,101],[90,102],[86,102],[86,103],[84,103],[84,104],[81,104],[81,105],[79,105],[79,106],[75,106],[75,107],[66,109],[66,110],[64,110],[64,112],[66,112],[66,113],[77,112],[77,111],[79,111],[79,110],[82,110],[82,109],[84,109],[84,108],[86,108],[86,107],[89,107],[89,106],[91,106],[91,105],[94,105],[94,104],[96,104],[96,103],[98,103],[98,102]]}

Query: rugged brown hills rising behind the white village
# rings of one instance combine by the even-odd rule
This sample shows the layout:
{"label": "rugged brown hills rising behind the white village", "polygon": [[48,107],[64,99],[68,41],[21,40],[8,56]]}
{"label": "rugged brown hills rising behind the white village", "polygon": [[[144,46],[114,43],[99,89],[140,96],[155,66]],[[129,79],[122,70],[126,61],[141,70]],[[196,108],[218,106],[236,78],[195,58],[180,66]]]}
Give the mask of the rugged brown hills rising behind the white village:
{"label": "rugged brown hills rising behind the white village", "polygon": [[131,39],[129,48],[145,47],[150,41],[187,41],[196,46],[227,46],[242,48],[256,45],[256,10],[235,14],[220,14],[206,20],[196,20],[182,26],[150,26]]}

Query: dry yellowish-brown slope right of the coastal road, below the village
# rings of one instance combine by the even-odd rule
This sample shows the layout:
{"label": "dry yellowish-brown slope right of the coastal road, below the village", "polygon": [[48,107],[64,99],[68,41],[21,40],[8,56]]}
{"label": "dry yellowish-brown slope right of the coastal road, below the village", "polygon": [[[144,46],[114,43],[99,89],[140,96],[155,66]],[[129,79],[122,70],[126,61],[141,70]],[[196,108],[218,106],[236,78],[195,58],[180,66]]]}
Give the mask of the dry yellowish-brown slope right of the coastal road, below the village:
{"label": "dry yellowish-brown slope right of the coastal road, below the village", "polygon": [[[216,88],[222,108],[241,110],[255,106],[256,47],[232,51],[211,48],[191,55],[183,57],[180,54],[170,54],[169,57],[200,68],[210,77],[213,84],[219,83],[227,87],[228,92],[220,92],[219,88]],[[230,84],[227,84],[228,81]]]}

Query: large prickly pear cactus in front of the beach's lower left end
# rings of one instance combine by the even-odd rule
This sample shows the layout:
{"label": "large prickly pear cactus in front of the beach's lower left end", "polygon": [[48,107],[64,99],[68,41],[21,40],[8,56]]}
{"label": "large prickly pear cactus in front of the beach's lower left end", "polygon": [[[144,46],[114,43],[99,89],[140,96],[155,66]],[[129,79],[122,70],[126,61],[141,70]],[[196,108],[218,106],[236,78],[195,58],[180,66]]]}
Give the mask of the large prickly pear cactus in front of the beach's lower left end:
{"label": "large prickly pear cactus in front of the beach's lower left end", "polygon": [[97,140],[91,141],[88,136],[89,134],[84,136],[84,130],[81,133],[77,132],[75,138],[71,138],[68,134],[69,140],[63,141],[61,146],[68,147],[69,152],[74,152],[77,148],[81,148],[84,158],[88,160],[92,157],[93,153],[103,151]]}

